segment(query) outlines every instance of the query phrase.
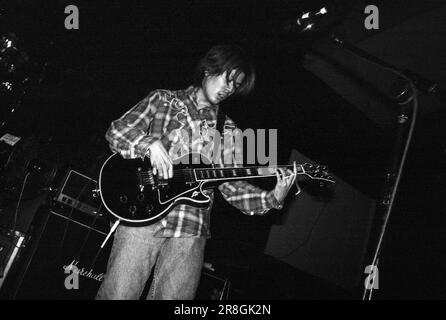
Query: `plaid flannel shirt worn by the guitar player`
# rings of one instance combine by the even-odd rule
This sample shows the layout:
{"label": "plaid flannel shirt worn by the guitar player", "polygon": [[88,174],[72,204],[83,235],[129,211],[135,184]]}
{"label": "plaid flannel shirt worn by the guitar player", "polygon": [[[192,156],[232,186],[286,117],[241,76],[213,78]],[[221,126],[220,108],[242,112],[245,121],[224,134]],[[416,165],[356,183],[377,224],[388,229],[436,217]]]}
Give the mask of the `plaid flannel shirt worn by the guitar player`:
{"label": "plaid flannel shirt worn by the guitar player", "polygon": [[[124,158],[144,157],[148,148],[160,140],[172,159],[189,152],[209,148],[213,140],[210,129],[216,129],[218,106],[197,109],[196,88],[185,90],[155,90],[121,118],[113,121],[106,139],[114,152]],[[234,122],[226,117],[224,131],[235,129]],[[193,141],[189,141],[193,137]],[[224,145],[224,154],[233,153],[234,144]],[[224,155],[223,155],[224,157]],[[225,159],[225,158],[223,158]],[[218,189],[223,198],[248,215],[262,215],[271,208],[280,209],[272,191],[265,191],[246,181],[224,182]],[[214,199],[213,190],[206,190],[212,201],[206,208],[180,204],[156,223],[155,236],[159,237],[210,237],[209,216]]]}

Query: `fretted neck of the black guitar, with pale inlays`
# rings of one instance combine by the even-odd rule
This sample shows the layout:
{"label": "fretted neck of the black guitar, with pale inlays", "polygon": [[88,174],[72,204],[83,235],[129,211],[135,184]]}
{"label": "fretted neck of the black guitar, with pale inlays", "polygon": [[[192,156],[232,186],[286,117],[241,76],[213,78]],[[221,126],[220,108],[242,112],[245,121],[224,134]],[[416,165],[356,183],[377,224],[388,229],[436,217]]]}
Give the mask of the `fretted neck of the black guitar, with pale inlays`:
{"label": "fretted neck of the black guitar, with pale inlays", "polygon": [[[279,165],[269,167],[226,167],[226,168],[203,168],[194,169],[195,179],[197,181],[227,181],[252,178],[272,177],[276,175],[278,168],[293,169],[293,165]],[[297,165],[297,173],[302,174],[302,166]]]}

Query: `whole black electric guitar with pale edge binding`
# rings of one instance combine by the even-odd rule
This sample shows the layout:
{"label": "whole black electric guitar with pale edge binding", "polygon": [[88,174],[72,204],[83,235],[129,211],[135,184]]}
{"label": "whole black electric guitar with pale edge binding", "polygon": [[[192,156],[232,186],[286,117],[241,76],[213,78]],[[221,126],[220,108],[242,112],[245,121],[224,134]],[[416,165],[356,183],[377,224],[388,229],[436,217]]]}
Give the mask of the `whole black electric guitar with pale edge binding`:
{"label": "whole black electric guitar with pale edge binding", "polygon": [[[105,160],[99,174],[99,191],[106,209],[130,225],[149,225],[166,216],[178,204],[206,207],[211,201],[204,191],[226,181],[265,178],[276,175],[274,167],[215,167],[202,154],[190,153],[173,165],[173,177],[153,174],[150,160],[124,159],[115,153]],[[326,166],[297,165],[297,173],[334,183]]]}

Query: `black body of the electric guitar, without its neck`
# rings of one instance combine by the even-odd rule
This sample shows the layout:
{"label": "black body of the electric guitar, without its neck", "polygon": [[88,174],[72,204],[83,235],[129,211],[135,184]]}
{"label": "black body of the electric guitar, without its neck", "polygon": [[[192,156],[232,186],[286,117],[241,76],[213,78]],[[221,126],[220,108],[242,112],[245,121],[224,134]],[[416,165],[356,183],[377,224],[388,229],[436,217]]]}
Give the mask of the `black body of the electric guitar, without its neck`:
{"label": "black body of the electric guitar, without its neck", "polygon": [[206,183],[195,179],[193,169],[212,166],[198,162],[200,157],[188,154],[178,159],[173,178],[162,180],[152,173],[148,158],[124,159],[115,153],[100,171],[102,202],[115,218],[131,225],[155,223],[178,204],[206,207],[211,200],[203,193]]}

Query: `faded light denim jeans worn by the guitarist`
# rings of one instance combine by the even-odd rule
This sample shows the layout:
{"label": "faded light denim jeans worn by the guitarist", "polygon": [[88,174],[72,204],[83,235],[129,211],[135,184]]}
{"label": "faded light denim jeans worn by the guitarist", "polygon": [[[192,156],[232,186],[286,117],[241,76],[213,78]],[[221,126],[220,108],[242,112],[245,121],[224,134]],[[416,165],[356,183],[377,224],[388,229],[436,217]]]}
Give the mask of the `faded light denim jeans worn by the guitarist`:
{"label": "faded light denim jeans worn by the guitarist", "polygon": [[153,266],[148,300],[192,300],[206,238],[156,238],[153,225],[119,226],[96,299],[139,299]]}

